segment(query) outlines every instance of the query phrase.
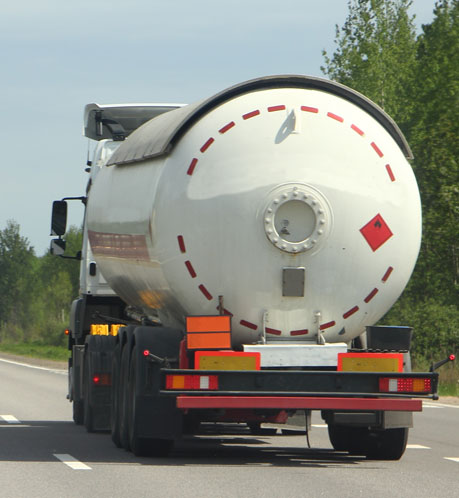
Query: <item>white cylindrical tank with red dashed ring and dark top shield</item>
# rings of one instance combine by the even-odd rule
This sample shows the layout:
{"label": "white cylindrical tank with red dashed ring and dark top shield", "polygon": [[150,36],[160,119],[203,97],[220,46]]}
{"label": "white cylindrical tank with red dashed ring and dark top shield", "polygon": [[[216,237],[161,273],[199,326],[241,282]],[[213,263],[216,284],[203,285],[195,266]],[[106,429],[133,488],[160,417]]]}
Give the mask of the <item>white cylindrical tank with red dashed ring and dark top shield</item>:
{"label": "white cylindrical tank with red dashed ring and dark top shield", "polygon": [[[349,341],[399,297],[420,246],[410,151],[342,85],[268,77],[134,131],[92,185],[104,277],[165,325],[232,315],[236,343]],[[220,297],[221,296],[221,297]]]}

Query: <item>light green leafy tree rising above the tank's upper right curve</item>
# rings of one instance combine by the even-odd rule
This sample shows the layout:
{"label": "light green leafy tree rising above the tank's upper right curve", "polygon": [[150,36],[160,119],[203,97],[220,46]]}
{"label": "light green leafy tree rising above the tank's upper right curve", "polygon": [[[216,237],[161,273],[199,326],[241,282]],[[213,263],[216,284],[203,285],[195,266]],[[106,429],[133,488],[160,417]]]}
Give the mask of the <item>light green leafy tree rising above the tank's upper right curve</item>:
{"label": "light green leafy tree rising above the tank's upper right curve", "polygon": [[342,28],[336,26],[334,54],[324,50],[322,72],[376,102],[402,128],[413,109],[416,63],[411,0],[350,0]]}

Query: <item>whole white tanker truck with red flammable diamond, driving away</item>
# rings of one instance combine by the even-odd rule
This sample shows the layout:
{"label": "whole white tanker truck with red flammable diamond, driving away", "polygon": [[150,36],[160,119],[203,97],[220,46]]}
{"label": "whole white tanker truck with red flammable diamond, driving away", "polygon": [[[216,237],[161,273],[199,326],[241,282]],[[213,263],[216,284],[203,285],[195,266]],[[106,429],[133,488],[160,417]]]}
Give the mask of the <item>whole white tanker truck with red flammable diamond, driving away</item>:
{"label": "whole white tanker truck with red flammable diamond, driving away", "polygon": [[84,133],[75,422],[159,455],[204,421],[320,410],[336,450],[400,458],[438,377],[410,372],[410,328],[373,326],[421,240],[391,118],[343,85],[272,76],[193,105],[90,104]]}

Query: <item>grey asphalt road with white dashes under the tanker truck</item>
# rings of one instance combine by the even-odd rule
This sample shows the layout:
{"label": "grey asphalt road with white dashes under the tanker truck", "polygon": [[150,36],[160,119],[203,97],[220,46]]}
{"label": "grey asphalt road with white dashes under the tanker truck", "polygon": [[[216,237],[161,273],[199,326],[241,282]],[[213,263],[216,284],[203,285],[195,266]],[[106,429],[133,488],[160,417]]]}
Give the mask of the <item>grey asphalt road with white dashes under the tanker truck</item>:
{"label": "grey asphalt road with white dashes under the tanker truck", "polygon": [[312,449],[299,427],[209,427],[154,459],[74,425],[66,392],[65,371],[0,359],[1,497],[459,497],[459,405],[425,403],[399,462],[333,452],[319,416]]}

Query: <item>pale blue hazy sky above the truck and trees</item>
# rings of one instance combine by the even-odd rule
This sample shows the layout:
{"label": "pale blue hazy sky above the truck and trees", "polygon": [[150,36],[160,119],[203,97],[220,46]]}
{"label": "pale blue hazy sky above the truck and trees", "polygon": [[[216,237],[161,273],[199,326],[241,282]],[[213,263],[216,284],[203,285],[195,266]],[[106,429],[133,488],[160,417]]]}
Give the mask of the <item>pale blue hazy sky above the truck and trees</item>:
{"label": "pale blue hazy sky above the truck and trees", "polygon": [[[321,76],[347,0],[16,0],[0,14],[0,230],[43,255],[52,201],[81,196],[83,109],[193,103],[272,74]],[[435,0],[414,0],[418,31]],[[90,145],[91,150],[93,145]],[[80,203],[69,223],[80,225]]]}

